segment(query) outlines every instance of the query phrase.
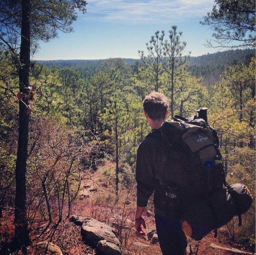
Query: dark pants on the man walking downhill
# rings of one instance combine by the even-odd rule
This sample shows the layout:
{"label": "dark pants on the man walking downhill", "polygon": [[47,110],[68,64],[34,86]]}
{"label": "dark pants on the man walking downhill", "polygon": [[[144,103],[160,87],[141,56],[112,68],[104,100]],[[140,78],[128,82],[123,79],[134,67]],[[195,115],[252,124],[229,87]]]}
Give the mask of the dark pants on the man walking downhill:
{"label": "dark pants on the man walking downhill", "polygon": [[187,247],[187,238],[178,220],[170,220],[160,215],[155,215],[156,232],[163,255],[184,255]]}

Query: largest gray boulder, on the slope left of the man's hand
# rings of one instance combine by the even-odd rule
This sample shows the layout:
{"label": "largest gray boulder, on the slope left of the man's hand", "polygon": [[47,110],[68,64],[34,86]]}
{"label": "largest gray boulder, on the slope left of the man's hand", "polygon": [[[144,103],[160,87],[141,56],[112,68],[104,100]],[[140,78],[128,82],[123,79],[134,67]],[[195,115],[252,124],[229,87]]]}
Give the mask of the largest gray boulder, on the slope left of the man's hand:
{"label": "largest gray boulder, on the slope left of the man's hand", "polygon": [[121,244],[114,230],[105,223],[90,217],[72,215],[70,220],[81,226],[82,241],[96,247],[105,255],[121,255]]}

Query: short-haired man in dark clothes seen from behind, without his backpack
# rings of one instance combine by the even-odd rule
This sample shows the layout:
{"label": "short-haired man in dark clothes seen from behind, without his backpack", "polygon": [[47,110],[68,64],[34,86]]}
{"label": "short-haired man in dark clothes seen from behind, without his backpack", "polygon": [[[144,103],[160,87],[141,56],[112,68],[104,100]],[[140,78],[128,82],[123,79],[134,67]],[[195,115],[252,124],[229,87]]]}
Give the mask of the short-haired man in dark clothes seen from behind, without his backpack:
{"label": "short-haired man in dark clothes seen from behind, without his backpack", "polygon": [[[145,220],[142,212],[148,199],[154,193],[156,231],[163,255],[186,255],[187,238],[182,231],[179,208],[167,212],[165,190],[161,187],[161,178],[165,176],[163,169],[164,149],[158,129],[168,116],[168,99],[164,94],[151,92],[143,101],[145,117],[151,132],[139,144],[136,162],[137,211],[135,228],[137,234],[145,235]],[[179,167],[179,162],[173,162]],[[179,168],[177,168],[179,170]],[[143,228],[144,229],[143,229]]]}

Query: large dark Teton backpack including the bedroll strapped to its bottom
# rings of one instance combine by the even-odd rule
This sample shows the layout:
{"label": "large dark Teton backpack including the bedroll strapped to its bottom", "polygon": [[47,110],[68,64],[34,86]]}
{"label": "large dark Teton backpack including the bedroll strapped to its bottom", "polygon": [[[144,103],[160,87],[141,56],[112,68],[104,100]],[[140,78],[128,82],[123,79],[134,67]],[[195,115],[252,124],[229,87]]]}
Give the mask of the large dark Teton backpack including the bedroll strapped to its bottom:
{"label": "large dark Teton backpack including the bedroll strapped to its bottom", "polygon": [[[207,108],[202,109],[206,113]],[[241,214],[252,203],[247,187],[239,184],[239,188],[234,189],[226,182],[217,131],[208,125],[207,114],[203,117],[200,118],[200,114],[190,118],[174,116],[159,128],[165,148],[165,176],[160,185],[165,191],[167,212],[170,217],[181,215],[195,240],[202,239],[211,230],[215,230],[217,236],[217,228],[227,224],[234,215],[238,215],[240,226]],[[176,160],[173,154],[178,155]],[[247,202],[242,203],[240,200],[245,197]],[[233,207],[229,207],[230,203]],[[223,213],[216,209],[219,208],[216,204],[225,205]]]}

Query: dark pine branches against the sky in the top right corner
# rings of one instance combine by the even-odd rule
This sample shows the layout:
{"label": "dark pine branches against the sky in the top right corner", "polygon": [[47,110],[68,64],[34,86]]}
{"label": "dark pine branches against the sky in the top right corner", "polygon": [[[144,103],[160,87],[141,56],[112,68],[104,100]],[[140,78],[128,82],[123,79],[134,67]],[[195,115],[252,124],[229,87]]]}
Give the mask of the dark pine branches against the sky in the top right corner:
{"label": "dark pine branches against the sky in the top right corner", "polygon": [[[214,31],[215,47],[255,47],[255,1],[215,0],[202,25]],[[209,41],[208,45],[214,47]]]}

